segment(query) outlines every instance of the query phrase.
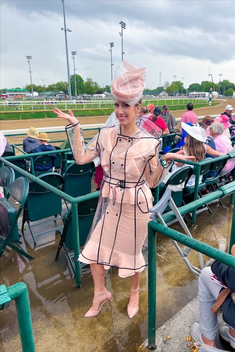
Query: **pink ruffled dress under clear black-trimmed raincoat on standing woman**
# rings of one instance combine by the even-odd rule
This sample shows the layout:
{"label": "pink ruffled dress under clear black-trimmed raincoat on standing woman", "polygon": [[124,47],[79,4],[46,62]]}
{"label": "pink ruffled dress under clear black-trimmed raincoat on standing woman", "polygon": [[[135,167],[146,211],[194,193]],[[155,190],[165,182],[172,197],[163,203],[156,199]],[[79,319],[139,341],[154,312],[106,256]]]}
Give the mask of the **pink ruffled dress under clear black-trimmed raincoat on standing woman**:
{"label": "pink ruffled dress under clear black-trimmed raincoat on standing woman", "polygon": [[119,125],[102,128],[86,148],[79,128],[73,135],[77,163],[99,156],[104,171],[96,215],[78,260],[105,269],[116,266],[120,277],[143,271],[142,247],[153,200],[149,187],[155,187],[166,170],[156,158],[159,140],[141,130],[123,136]]}

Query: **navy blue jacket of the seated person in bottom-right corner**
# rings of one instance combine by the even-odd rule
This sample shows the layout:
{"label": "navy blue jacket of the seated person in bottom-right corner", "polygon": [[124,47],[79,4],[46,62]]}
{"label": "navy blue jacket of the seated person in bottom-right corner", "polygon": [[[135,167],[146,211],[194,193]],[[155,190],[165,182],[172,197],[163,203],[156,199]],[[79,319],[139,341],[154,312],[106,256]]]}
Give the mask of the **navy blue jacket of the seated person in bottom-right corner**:
{"label": "navy blue jacket of the seated person in bottom-right corner", "polygon": [[[235,293],[235,268],[215,261],[211,266],[212,272],[216,275],[217,279],[223,284],[229,287]],[[223,291],[225,288],[222,287],[220,290]],[[224,320],[235,329],[235,302],[231,295],[227,297],[225,302],[221,306]]]}

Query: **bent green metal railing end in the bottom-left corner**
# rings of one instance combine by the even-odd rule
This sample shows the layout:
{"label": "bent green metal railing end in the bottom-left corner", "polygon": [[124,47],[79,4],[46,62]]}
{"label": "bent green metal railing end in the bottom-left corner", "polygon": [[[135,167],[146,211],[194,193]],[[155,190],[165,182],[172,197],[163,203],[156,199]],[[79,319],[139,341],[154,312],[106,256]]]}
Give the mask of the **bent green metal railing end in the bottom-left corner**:
{"label": "bent green metal railing end in the bottom-left corner", "polygon": [[23,352],[35,352],[29,293],[24,282],[6,287],[0,285],[0,310],[15,301],[20,340]]}

